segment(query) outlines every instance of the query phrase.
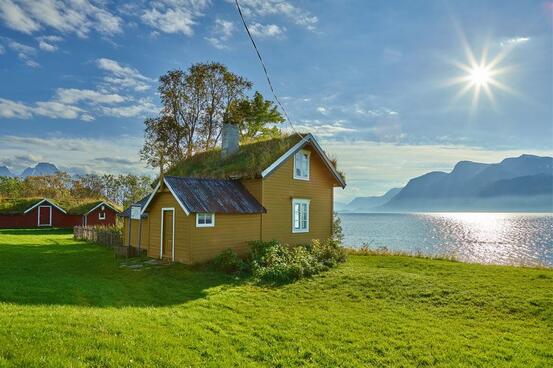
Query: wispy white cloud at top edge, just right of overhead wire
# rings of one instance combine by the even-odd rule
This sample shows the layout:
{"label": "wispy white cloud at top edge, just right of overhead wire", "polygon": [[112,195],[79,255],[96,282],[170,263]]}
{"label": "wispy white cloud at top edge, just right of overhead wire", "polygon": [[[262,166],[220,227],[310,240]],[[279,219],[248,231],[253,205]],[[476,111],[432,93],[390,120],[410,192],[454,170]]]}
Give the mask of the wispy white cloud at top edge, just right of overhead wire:
{"label": "wispy white cloud at top edge, just right of overhead wire", "polygon": [[[233,0],[227,0],[234,2]],[[309,30],[315,30],[318,18],[310,12],[282,0],[241,0],[240,6],[249,16],[282,15],[289,18],[295,24]]]}

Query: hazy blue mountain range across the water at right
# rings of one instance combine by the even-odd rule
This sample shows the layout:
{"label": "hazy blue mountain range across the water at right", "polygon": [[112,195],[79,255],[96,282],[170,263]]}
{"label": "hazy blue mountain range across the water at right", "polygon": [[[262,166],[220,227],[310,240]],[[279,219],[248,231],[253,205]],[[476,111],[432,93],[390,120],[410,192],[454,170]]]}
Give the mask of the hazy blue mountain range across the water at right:
{"label": "hazy blue mountain range across the water at right", "polygon": [[521,155],[495,164],[460,161],[380,197],[358,197],[344,212],[551,211],[553,158]]}

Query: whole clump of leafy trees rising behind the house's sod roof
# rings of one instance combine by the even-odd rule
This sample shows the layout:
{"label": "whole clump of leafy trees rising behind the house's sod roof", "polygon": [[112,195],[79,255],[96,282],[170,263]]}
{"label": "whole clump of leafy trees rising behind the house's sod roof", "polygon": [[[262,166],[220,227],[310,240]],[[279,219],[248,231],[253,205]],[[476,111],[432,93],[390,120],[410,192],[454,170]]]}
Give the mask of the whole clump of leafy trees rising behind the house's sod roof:
{"label": "whole clump of leafy trees rising behind the house's sod roof", "polygon": [[172,70],[159,79],[162,108],[146,119],[140,157],[163,169],[198,152],[212,150],[221,138],[223,122],[240,126],[241,141],[280,136],[274,127],[284,119],[275,105],[256,92],[252,83],[220,63],[193,64],[186,71]]}

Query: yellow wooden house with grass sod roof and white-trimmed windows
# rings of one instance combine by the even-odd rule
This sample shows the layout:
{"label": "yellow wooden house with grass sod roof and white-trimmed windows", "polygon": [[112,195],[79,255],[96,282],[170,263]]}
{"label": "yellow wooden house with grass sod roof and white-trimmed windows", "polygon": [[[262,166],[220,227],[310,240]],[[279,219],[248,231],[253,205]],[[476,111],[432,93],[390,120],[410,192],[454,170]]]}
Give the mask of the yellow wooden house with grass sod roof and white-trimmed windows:
{"label": "yellow wooden house with grass sod roof and white-trimmed windows", "polygon": [[123,212],[125,245],[200,263],[229,248],[244,255],[252,240],[331,236],[334,188],[346,183],[312,134],[239,146],[225,133],[221,150],[175,165]]}

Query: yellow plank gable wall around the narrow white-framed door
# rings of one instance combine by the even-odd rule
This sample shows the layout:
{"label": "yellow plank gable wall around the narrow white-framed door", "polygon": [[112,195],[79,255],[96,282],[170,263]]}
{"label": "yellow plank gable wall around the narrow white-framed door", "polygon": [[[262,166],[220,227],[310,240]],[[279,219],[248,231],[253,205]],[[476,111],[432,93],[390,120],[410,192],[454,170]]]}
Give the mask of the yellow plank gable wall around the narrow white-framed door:
{"label": "yellow plank gable wall around the narrow white-framed door", "polygon": [[166,188],[161,189],[148,206],[150,224],[148,256],[159,258],[162,208],[175,209],[175,261],[191,263],[190,226],[194,216],[186,216],[175,197]]}

